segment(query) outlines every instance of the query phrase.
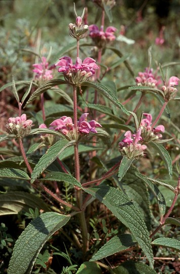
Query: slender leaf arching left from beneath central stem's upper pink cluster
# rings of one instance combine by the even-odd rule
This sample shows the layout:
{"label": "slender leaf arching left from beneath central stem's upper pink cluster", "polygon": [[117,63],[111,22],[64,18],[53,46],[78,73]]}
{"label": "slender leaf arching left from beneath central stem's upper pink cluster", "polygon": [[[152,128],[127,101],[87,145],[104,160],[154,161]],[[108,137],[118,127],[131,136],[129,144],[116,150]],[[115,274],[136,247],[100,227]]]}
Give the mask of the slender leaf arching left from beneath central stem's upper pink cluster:
{"label": "slender leaf arching left from beneath central stem's upper pink cluster", "polygon": [[44,93],[46,90],[48,90],[54,86],[62,85],[62,84],[66,84],[66,82],[61,79],[53,79],[53,80],[46,82],[43,86],[37,88],[37,90],[35,90],[32,93],[30,98],[27,100],[26,105],[30,104],[30,102],[32,102],[35,98],[37,98],[40,94]]}

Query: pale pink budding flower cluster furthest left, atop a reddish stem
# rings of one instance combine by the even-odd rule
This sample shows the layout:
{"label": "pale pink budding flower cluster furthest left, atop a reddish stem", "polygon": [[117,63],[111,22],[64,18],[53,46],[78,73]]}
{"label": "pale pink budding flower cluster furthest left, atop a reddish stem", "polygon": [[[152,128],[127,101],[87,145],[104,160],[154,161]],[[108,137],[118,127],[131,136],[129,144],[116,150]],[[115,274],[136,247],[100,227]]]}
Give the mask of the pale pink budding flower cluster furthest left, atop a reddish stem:
{"label": "pale pink budding flower cluster furthest left, atop a reddish stem", "polygon": [[9,118],[8,121],[9,123],[6,125],[8,133],[15,134],[19,138],[27,135],[31,130],[32,120],[27,120],[25,114]]}

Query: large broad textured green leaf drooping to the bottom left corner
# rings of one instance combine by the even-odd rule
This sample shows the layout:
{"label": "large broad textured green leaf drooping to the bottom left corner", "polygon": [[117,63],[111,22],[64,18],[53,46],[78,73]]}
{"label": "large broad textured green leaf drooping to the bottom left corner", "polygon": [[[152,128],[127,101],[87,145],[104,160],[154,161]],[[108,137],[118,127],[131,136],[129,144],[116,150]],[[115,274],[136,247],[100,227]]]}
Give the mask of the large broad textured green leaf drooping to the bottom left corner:
{"label": "large broad textured green leaf drooping to the bottom left corner", "polygon": [[8,274],[30,274],[44,244],[69,219],[69,216],[47,212],[32,220],[16,241]]}

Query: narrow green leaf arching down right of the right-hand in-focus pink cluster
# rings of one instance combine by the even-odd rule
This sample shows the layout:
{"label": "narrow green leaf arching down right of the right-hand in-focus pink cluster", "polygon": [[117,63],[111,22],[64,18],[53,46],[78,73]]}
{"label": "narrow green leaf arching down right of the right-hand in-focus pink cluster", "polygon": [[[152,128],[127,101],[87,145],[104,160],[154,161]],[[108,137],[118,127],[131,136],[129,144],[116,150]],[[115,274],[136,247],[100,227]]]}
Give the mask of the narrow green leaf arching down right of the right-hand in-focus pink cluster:
{"label": "narrow green leaf arching down right of the right-hand in-focus pink cluster", "polygon": [[171,178],[172,177],[172,160],[170,158],[168,151],[162,145],[156,144],[152,141],[149,142],[149,144],[159,153],[159,155],[163,159],[166,165],[166,168],[168,170],[169,177]]}

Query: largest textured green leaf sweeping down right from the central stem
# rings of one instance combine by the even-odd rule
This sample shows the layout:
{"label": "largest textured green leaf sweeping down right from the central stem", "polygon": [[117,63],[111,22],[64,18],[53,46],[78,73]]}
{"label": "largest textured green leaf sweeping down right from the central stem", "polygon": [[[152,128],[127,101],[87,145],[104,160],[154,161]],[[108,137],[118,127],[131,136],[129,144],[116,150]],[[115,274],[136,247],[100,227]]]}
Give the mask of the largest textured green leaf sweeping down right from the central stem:
{"label": "largest textured green leaf sweeping down right from the central stem", "polygon": [[149,232],[145,221],[139,210],[135,208],[133,202],[128,199],[124,193],[114,187],[100,185],[84,190],[105,204],[106,207],[130,229],[140,248],[147,256],[151,267],[153,267],[153,251]]}

